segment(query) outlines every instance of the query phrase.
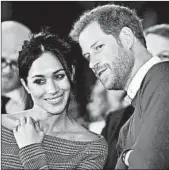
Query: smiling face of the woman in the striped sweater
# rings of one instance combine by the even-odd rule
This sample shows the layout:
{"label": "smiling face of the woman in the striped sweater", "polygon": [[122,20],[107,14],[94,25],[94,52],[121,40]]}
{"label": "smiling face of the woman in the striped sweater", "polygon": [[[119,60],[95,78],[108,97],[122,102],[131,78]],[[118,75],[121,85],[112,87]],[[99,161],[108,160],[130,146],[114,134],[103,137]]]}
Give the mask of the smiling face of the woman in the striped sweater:
{"label": "smiling face of the woman in the striped sweater", "polygon": [[53,54],[43,53],[33,62],[27,82],[34,105],[51,114],[65,110],[71,87],[61,63]]}

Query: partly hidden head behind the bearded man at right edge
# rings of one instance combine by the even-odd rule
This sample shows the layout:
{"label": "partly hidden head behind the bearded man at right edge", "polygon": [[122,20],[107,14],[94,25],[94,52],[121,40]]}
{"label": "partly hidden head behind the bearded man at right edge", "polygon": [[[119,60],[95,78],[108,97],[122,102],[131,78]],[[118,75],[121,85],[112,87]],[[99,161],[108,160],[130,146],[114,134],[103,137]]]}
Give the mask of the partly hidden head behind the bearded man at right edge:
{"label": "partly hidden head behind the bearded man at right edge", "polygon": [[169,60],[169,24],[159,24],[145,30],[148,51],[159,56],[162,61]]}

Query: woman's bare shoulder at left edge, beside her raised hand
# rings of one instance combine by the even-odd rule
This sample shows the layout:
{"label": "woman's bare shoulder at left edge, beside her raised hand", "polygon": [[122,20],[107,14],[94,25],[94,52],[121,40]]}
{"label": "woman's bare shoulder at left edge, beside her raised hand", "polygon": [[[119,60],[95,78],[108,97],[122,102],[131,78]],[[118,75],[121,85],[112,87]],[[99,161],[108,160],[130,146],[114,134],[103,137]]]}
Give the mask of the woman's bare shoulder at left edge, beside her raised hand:
{"label": "woman's bare shoulder at left edge, beside her raised hand", "polygon": [[21,116],[26,116],[28,113],[27,110],[13,113],[13,114],[3,114],[1,116],[2,118],[2,125],[5,126],[8,129],[13,129],[16,127],[16,120],[18,120]]}

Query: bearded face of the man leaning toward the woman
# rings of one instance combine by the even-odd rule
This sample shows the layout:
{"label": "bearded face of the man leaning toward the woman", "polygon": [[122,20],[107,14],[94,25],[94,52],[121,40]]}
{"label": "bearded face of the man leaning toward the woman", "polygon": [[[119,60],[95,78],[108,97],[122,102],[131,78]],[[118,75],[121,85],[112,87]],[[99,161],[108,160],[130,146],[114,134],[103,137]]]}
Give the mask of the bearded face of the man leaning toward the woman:
{"label": "bearded face of the man leaning toward the woman", "polygon": [[107,89],[125,88],[134,65],[129,50],[117,43],[111,34],[104,33],[97,22],[80,33],[79,44],[89,67]]}

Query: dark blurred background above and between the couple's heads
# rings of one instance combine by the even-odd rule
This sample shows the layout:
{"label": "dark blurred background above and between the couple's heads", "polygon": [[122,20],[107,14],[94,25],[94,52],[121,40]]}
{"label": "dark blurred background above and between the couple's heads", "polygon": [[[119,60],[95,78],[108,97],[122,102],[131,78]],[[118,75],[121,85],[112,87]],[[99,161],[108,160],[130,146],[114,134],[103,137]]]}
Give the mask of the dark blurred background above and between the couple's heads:
{"label": "dark blurred background above and between the couple's heads", "polygon": [[[28,26],[32,32],[40,31],[42,26],[50,26],[52,32],[67,39],[72,23],[85,10],[98,5],[111,3],[110,1],[1,1],[1,22],[15,20]],[[169,2],[167,1],[113,1],[135,9],[143,19],[144,29],[155,24],[169,23]],[[76,68],[76,98],[77,113],[75,117],[83,117],[89,120],[86,107],[90,100],[90,93],[96,81],[95,76],[88,68],[88,64],[81,57],[80,48],[76,49],[78,57]]]}

